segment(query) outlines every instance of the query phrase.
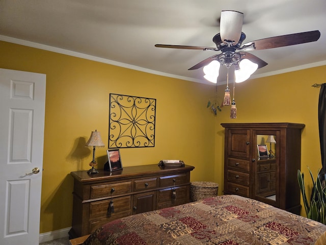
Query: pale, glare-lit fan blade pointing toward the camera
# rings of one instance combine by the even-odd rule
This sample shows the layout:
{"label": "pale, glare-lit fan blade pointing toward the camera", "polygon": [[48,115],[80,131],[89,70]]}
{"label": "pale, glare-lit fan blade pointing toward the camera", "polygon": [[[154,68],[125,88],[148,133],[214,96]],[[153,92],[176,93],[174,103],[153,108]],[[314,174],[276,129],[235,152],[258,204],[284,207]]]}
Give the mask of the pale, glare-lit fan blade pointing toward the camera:
{"label": "pale, glare-lit fan blade pointing toward the camera", "polygon": [[222,41],[238,43],[242,30],[243,13],[224,10],[221,12],[220,33]]}

